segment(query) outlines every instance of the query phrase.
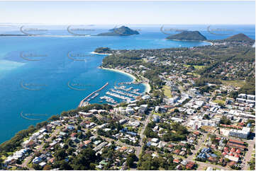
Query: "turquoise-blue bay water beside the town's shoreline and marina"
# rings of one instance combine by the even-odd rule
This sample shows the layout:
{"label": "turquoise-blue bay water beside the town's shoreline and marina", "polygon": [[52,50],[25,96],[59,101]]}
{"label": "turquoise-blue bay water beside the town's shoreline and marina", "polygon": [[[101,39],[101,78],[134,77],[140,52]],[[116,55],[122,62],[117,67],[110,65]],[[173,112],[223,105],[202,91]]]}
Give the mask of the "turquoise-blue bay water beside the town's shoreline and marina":
{"label": "turquoise-blue bay water beside the town's shoreline and marina", "polygon": [[[254,30],[247,30],[250,37],[255,37]],[[206,37],[218,38],[203,32]],[[68,35],[65,30],[54,33]],[[105,56],[91,54],[97,47],[156,49],[208,45],[165,40],[167,35],[158,27],[144,27],[140,33],[130,37],[0,37],[0,143],[52,114],[76,108],[80,100],[106,82],[108,86],[91,103],[99,102],[99,97],[115,83],[132,81],[125,74],[98,69]],[[76,54],[82,57],[70,58]],[[69,88],[68,83],[79,90]],[[143,85],[134,87],[139,88],[140,93],[145,90]],[[21,112],[40,120],[24,119]]]}

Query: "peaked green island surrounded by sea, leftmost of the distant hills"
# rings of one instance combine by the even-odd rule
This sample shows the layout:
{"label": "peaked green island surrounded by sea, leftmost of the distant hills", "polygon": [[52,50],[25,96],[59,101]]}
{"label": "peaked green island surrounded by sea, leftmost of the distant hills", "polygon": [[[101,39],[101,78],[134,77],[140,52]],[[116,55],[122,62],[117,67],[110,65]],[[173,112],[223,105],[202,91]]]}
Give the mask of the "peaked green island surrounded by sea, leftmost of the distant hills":
{"label": "peaked green island surrounded by sea, leftmost of the distant hills", "polygon": [[132,30],[126,26],[121,26],[120,28],[113,28],[111,30],[108,30],[107,33],[99,33],[98,35],[139,35],[138,31]]}

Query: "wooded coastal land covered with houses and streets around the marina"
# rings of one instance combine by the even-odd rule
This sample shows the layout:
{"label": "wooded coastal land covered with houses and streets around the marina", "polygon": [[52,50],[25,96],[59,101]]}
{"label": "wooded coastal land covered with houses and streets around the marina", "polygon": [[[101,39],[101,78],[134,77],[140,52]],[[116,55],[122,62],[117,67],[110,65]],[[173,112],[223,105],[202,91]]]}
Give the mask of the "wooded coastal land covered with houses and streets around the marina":
{"label": "wooded coastal land covered with houses and streets around the marina", "polygon": [[[105,35],[111,34],[123,32]],[[206,37],[196,31],[167,39]],[[116,105],[82,105],[19,131],[0,145],[1,168],[255,170],[255,40],[238,34],[207,41],[191,48],[95,49],[108,54],[102,69],[132,74],[127,84],[145,83],[148,91]],[[116,94],[129,91],[117,87]]]}

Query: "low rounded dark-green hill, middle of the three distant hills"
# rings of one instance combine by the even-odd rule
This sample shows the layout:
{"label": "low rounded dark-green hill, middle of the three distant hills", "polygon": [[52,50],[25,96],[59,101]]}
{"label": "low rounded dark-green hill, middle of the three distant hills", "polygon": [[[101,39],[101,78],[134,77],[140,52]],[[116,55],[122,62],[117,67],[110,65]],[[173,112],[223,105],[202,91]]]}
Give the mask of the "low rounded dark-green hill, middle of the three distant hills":
{"label": "low rounded dark-green hill, middle of the three distant hills", "polygon": [[176,35],[170,35],[166,39],[168,40],[206,40],[206,37],[199,33],[199,31],[183,31],[182,33]]}

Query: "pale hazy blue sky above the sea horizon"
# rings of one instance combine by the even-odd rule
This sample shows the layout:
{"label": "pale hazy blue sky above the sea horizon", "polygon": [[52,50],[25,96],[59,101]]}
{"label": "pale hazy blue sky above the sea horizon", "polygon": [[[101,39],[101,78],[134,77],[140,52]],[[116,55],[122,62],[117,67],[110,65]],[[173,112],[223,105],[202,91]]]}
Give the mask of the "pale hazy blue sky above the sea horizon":
{"label": "pale hazy blue sky above the sea horizon", "polygon": [[0,23],[255,25],[255,1],[0,1]]}

